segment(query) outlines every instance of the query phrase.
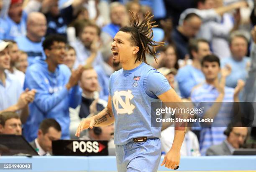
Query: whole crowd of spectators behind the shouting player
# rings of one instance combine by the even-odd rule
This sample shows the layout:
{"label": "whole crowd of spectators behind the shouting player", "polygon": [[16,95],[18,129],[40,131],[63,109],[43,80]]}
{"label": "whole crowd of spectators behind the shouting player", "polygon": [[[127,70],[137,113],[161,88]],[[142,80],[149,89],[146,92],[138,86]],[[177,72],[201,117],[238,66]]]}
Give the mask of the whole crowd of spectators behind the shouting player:
{"label": "whole crowd of spectators behind the shouting player", "polygon": [[[39,155],[51,155],[52,140],[74,139],[79,122],[107,105],[108,80],[120,69],[110,44],[128,11],[140,19],[151,11],[159,24],[154,40],[165,46],[157,62],[147,56],[149,65],[184,102],[212,102],[204,115],[222,120],[227,104],[219,102],[256,102],[255,7],[256,0],[0,0],[0,134],[23,135]],[[81,139],[113,147],[113,128]],[[249,133],[190,126],[181,155],[232,155]],[[174,127],[162,131],[163,152],[173,137]]]}

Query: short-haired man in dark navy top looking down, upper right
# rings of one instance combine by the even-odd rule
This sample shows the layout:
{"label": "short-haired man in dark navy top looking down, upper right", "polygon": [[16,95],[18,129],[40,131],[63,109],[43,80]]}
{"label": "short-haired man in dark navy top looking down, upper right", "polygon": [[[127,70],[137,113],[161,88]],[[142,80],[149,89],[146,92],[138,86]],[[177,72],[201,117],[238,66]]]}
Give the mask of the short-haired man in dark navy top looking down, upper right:
{"label": "short-haired man in dark navy top looking down, upper right", "polygon": [[201,18],[195,13],[188,14],[183,22],[172,31],[171,37],[177,47],[178,57],[184,59],[188,52],[189,40],[197,35],[201,27]]}

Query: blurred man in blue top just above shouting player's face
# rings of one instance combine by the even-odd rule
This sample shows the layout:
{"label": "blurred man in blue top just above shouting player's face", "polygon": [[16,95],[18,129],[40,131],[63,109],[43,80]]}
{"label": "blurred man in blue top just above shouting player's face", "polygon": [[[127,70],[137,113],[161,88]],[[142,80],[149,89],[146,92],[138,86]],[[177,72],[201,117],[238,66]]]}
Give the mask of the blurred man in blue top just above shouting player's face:
{"label": "blurred man in blue top just above shouting player's face", "polygon": [[128,24],[128,14],[123,4],[120,2],[110,4],[110,20],[110,24],[102,27],[101,38],[104,45],[112,42],[119,29]]}

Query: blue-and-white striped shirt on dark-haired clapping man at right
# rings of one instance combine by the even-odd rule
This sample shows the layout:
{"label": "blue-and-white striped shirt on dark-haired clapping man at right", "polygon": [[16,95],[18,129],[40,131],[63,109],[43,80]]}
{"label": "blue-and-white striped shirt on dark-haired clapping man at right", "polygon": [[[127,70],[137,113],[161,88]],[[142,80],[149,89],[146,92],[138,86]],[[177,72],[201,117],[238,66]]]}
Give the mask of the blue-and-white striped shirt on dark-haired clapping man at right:
{"label": "blue-and-white striped shirt on dark-haired clapping man at right", "polygon": [[[209,102],[207,106],[210,107],[219,95],[218,90],[207,83],[204,83],[196,87],[191,94],[192,102]],[[225,87],[225,95],[223,102],[233,102],[234,89],[231,87]],[[212,103],[210,103],[212,102]],[[197,104],[197,103],[195,103]],[[218,145],[225,140],[223,134],[230,119],[230,110],[233,103],[222,103],[220,111],[214,118],[214,124],[212,126],[218,127],[204,127],[200,131],[200,152],[201,155],[205,155],[206,150],[212,145]],[[204,106],[205,107],[205,106]],[[207,107],[204,111],[207,110]],[[223,127],[220,127],[223,126]]]}

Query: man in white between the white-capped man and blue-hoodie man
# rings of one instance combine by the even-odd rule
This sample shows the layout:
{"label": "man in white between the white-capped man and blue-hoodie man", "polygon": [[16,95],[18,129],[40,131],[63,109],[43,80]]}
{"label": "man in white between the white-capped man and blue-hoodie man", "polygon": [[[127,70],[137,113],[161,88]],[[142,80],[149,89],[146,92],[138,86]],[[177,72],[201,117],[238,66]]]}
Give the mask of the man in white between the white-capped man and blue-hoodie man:
{"label": "man in white between the white-capped man and blue-hoodie man", "polygon": [[21,72],[20,70],[15,68],[15,63],[19,59],[19,49],[18,45],[15,41],[10,41],[12,42],[12,46],[10,47],[9,50],[9,55],[10,55],[10,69],[6,70],[5,72],[9,72],[13,75],[15,75],[18,80],[20,81],[21,86],[23,87],[24,80],[25,80],[25,74]]}

